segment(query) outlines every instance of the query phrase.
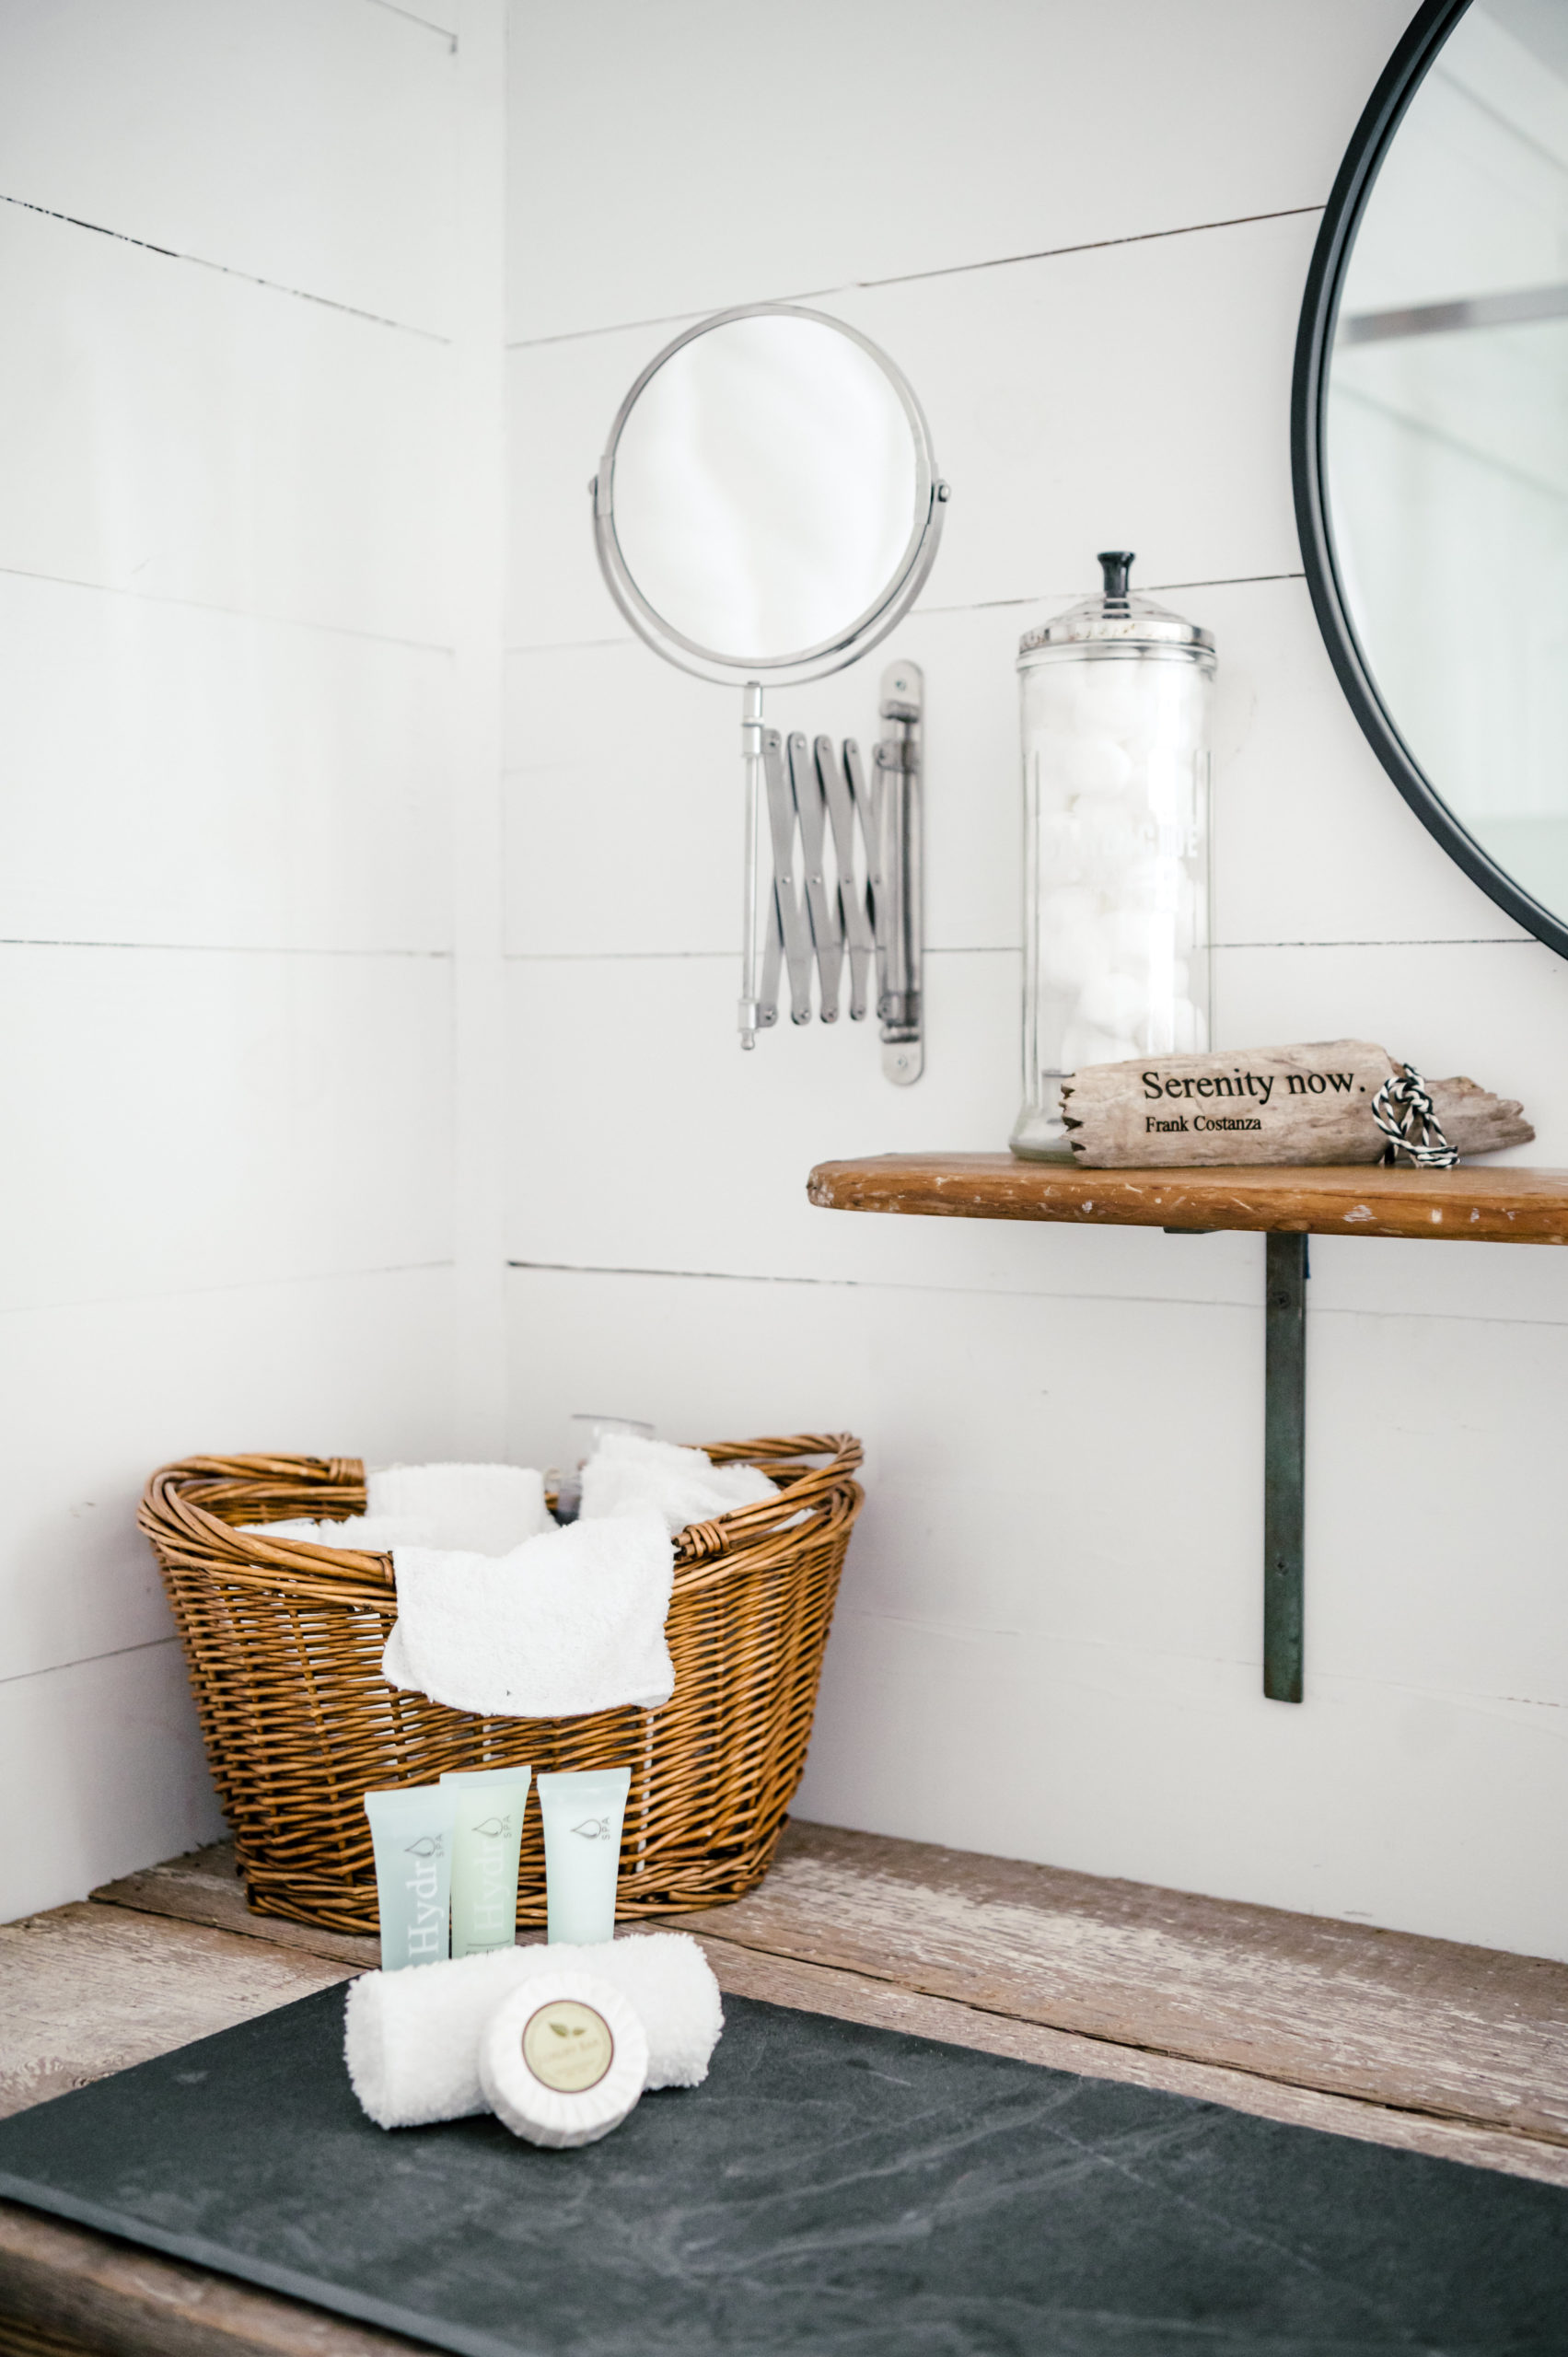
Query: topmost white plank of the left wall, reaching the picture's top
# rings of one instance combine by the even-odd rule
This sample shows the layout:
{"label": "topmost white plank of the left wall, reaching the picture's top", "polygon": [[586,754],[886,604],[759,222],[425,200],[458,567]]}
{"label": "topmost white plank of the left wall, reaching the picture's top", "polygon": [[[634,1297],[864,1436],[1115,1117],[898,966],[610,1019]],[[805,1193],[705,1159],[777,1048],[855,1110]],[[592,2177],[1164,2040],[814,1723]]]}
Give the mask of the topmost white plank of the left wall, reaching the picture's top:
{"label": "topmost white plank of the left wall, reaching the picture's top", "polygon": [[12,0],[2,196],[448,325],[450,31],[368,0]]}

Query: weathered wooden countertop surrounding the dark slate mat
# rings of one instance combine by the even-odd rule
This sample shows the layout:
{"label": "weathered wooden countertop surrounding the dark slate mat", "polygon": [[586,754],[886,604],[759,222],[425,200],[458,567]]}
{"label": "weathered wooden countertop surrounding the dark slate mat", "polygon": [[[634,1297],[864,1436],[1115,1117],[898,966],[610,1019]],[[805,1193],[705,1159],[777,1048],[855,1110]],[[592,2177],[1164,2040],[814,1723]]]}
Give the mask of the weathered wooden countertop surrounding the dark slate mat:
{"label": "weathered wooden countertop surrounding the dark slate mat", "polygon": [[[1568,1966],[811,1824],[681,1921],[731,1994],[1568,2185]],[[252,1914],[226,1843],[125,1876],[0,1930],[0,2100],[361,1963],[373,1940]],[[2,2315],[118,2357],[410,2348],[7,2204]]]}

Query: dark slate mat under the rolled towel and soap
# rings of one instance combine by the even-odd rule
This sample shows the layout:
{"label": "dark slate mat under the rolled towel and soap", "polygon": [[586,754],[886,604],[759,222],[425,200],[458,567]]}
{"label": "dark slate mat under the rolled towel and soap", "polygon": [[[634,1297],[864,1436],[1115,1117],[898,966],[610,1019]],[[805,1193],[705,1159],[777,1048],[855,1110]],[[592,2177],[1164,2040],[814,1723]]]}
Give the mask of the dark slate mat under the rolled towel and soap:
{"label": "dark slate mat under the rolled towel and soap", "polygon": [[1568,2192],[740,1996],[585,2152],[387,2135],[342,1989],[0,2121],[0,2194],[467,2357],[1563,2357]]}

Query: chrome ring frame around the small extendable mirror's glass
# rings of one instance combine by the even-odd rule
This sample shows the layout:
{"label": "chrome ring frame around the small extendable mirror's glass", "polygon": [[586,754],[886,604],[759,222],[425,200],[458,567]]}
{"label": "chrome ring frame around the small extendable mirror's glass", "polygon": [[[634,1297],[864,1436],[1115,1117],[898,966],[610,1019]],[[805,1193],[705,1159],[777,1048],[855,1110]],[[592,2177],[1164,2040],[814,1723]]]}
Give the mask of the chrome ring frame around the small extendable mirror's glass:
{"label": "chrome ring frame around the small extendable mirror's glass", "polygon": [[[818,328],[832,328],[835,335],[849,337],[851,344],[858,344],[861,351],[877,363],[898,394],[898,403],[915,441],[915,523],[891,582],[882,596],[865,608],[865,613],[856,615],[854,622],[839,629],[832,639],[823,639],[818,646],[804,646],[795,655],[719,655],[714,648],[698,646],[696,639],[686,639],[684,632],[674,629],[672,622],[665,622],[665,618],[648,606],[641,589],[632,580],[615,535],[615,455],[620,450],[625,422],[637,408],[641,391],[677,351],[693,344],[700,335],[712,335],[714,328],[733,325],[738,318],[806,318]],[[599,474],[589,483],[589,490],[594,495],[594,547],[599,552],[599,570],[604,573],[611,596],[637,636],[646,639],[646,643],[663,655],[665,662],[674,662],[681,672],[696,672],[698,679],[712,679],[722,686],[755,679],[776,688],[795,688],[809,679],[828,679],[832,672],[842,672],[851,662],[858,662],[861,655],[898,627],[924,589],[927,575],[936,563],[943,507],[948,500],[948,486],[936,474],[931,429],[927,427],[924,410],[915,398],[915,387],[896,361],[889,361],[879,344],[872,344],[872,339],[861,335],[858,328],[849,328],[842,318],[830,318],[828,311],[809,311],[804,304],[795,302],[747,302],[738,304],[733,311],[714,311],[710,318],[700,318],[696,328],[684,328],[681,335],[665,344],[663,351],[655,351],[615,410],[615,422],[611,424],[611,436],[604,445],[604,457],[599,460]]]}

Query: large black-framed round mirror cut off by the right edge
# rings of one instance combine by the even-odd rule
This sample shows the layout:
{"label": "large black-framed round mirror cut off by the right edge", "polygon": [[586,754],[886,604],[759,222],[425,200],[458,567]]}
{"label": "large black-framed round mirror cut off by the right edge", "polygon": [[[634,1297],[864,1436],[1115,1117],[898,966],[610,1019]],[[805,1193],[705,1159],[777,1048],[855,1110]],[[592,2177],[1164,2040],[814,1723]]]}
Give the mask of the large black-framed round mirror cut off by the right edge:
{"label": "large black-framed round mirror cut off by the right edge", "polygon": [[1568,0],[1431,0],[1297,346],[1302,547],[1405,799],[1568,955]]}

